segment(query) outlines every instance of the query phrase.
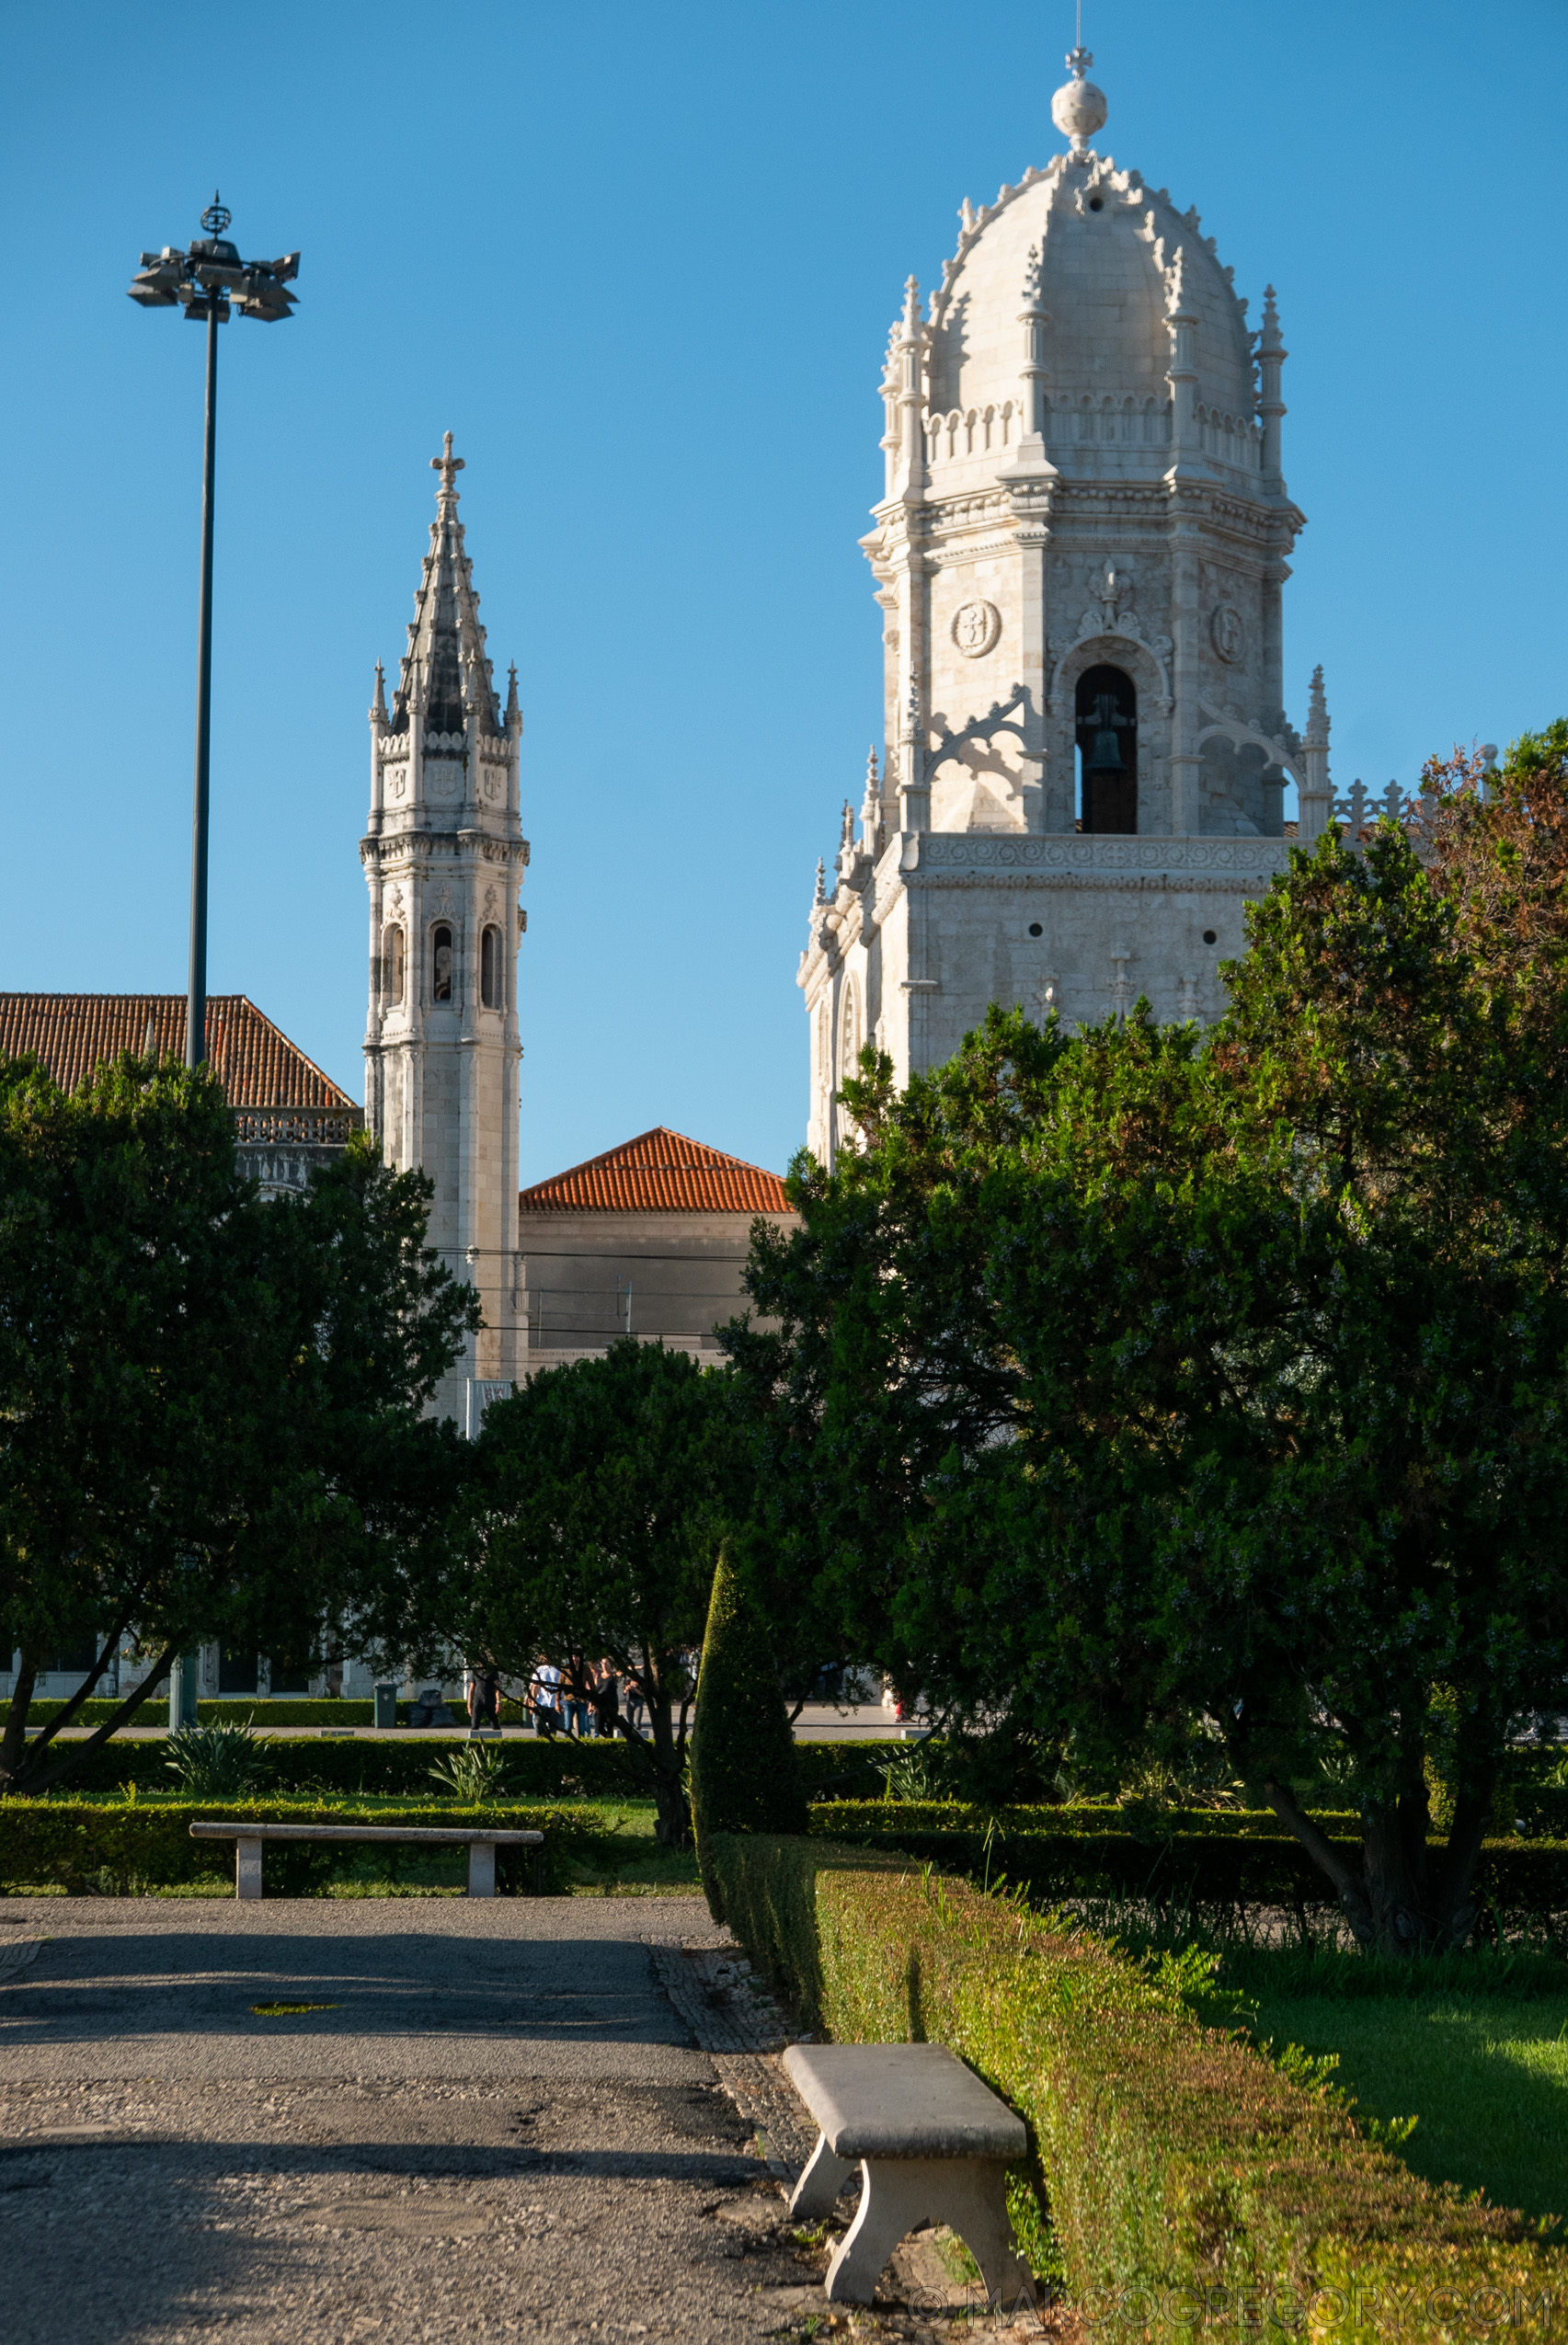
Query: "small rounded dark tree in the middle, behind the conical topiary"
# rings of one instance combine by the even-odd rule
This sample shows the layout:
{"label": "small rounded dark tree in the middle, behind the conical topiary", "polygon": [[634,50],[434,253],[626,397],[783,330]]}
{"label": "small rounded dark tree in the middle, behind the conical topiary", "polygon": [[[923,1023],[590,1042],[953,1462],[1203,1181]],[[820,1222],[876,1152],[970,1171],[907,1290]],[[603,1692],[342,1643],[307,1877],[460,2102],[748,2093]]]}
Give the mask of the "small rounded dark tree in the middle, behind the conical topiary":
{"label": "small rounded dark tree in the middle, behind the conical topiary", "polygon": [[745,1520],[750,1452],[731,1377],[663,1344],[614,1344],[546,1369],[485,1412],[476,1522],[462,1590],[436,1623],[513,1677],[544,1658],[584,1691],[609,1660],[635,1677],[647,1731],[619,1733],[659,1803],[659,1838],[684,1848],[694,1658],[720,1543]]}

